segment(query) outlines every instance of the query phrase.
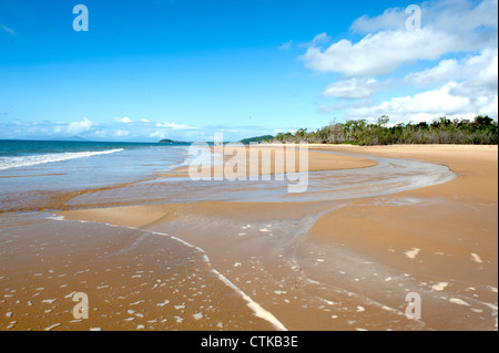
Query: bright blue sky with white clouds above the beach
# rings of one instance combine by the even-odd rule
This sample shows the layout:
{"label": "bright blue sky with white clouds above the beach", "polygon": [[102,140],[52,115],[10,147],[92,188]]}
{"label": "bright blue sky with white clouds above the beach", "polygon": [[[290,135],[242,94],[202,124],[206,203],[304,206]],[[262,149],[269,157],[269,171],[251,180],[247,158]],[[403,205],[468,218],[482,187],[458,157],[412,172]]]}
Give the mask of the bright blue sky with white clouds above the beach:
{"label": "bright blue sky with white clouds above the beach", "polygon": [[[88,32],[73,30],[79,3]],[[0,138],[497,118],[497,0],[2,0]]]}

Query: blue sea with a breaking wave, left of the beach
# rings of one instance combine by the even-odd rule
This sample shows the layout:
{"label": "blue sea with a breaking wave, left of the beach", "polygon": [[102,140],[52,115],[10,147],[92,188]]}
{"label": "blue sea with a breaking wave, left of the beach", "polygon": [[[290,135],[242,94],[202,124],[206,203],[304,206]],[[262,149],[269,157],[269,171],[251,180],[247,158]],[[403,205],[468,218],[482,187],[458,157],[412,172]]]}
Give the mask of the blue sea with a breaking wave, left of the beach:
{"label": "blue sea with a breaking wave, left of the beach", "polygon": [[71,193],[153,179],[185,163],[187,150],[159,143],[0,141],[0,211],[59,208]]}

